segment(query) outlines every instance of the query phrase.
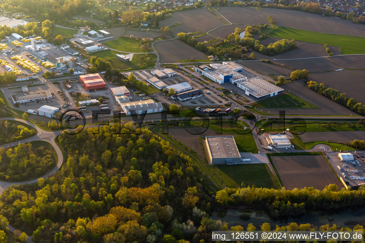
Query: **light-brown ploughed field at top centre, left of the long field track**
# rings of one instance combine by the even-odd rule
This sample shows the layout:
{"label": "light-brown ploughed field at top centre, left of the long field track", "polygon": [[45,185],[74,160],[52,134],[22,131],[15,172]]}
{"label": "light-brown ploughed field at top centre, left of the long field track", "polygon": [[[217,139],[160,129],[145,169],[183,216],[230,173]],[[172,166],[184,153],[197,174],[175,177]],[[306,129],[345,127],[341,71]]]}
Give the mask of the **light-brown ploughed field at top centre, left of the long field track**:
{"label": "light-brown ploughed field at top centre, left of the long field track", "polygon": [[172,26],[177,23],[183,23],[171,28],[174,34],[185,32],[193,33],[199,31],[204,33],[223,25],[223,21],[218,19],[212,12],[206,8],[173,13],[172,17],[160,21],[160,26]]}

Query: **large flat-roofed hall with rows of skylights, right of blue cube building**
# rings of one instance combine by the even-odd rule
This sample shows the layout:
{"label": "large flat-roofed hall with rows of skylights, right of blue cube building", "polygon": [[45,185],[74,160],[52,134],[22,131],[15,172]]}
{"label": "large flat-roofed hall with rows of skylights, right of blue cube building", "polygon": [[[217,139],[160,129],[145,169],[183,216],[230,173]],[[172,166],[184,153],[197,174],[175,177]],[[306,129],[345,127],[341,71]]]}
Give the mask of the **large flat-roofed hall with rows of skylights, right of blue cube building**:
{"label": "large flat-roofed hall with rows of skylights, right of blue cube building", "polygon": [[256,99],[272,97],[284,92],[284,89],[259,77],[249,78],[247,81],[237,82],[237,87],[245,90],[245,94]]}

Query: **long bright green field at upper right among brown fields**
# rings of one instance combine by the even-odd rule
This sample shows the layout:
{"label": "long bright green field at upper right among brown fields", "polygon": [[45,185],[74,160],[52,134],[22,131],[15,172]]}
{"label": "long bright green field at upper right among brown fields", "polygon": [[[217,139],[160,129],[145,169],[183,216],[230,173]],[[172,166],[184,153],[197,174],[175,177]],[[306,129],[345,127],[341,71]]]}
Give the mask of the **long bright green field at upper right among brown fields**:
{"label": "long bright green field at upper right among brown fields", "polygon": [[271,37],[295,39],[316,44],[328,44],[340,47],[342,54],[365,54],[365,38],[348,35],[324,34],[319,32],[299,30],[289,27],[273,27],[261,32]]}

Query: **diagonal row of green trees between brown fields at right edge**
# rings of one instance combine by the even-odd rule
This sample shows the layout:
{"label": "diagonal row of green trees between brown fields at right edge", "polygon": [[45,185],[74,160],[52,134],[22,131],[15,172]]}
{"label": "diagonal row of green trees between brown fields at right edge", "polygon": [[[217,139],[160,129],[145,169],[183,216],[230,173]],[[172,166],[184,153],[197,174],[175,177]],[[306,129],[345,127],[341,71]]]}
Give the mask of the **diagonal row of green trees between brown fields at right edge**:
{"label": "diagonal row of green trees between brown fields at right edge", "polygon": [[307,85],[308,88],[316,91],[318,94],[321,94],[360,115],[365,114],[365,105],[356,102],[354,98],[348,97],[346,93],[340,93],[337,89],[333,89],[331,87],[327,88],[323,83],[318,83],[315,81],[309,81],[307,82]]}

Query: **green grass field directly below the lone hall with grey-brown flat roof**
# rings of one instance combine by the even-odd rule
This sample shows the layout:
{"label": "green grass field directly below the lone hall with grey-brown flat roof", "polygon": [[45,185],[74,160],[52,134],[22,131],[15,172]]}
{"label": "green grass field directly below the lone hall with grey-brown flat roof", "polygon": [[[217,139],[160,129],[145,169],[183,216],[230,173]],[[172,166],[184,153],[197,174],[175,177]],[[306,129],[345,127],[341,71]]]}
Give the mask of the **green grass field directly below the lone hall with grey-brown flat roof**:
{"label": "green grass field directly below the lone hall with grey-brown flat roof", "polygon": [[218,176],[227,187],[252,186],[279,188],[276,177],[267,164],[217,165]]}

